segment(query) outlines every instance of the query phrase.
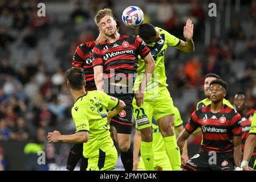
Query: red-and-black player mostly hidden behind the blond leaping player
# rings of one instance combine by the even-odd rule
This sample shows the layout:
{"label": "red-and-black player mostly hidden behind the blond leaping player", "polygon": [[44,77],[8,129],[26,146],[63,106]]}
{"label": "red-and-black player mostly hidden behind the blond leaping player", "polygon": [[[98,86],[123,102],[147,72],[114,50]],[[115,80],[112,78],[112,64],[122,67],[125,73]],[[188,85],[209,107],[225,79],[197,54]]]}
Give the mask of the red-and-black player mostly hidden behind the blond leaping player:
{"label": "red-and-black player mostly hidden behind the blond leaping player", "polygon": [[[120,24],[117,19],[115,20],[117,23],[116,27],[118,30]],[[92,61],[94,61],[94,58],[92,57],[92,49],[96,46],[96,44],[102,42],[105,39],[105,35],[100,32],[96,40],[80,44],[80,46],[76,48],[76,51],[74,53],[72,66],[81,67],[84,69],[86,91],[96,90],[96,85],[94,81],[94,67],[92,66]],[[66,169],[68,171],[73,171],[80,159],[80,171],[85,171],[88,165],[88,159],[84,158],[83,156],[83,143],[74,144],[72,146],[70,153],[68,154]]]}

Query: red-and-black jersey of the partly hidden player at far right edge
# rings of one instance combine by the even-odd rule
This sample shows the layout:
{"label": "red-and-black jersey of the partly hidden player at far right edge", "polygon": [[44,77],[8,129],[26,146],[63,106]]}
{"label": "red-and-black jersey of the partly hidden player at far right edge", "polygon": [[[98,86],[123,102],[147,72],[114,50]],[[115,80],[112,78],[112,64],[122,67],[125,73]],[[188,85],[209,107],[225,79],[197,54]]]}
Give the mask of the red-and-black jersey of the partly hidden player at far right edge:
{"label": "red-and-black jersey of the partly hidden player at far right edge", "polygon": [[[249,131],[251,128],[251,122],[253,121],[253,114],[255,109],[251,109],[246,111],[245,115],[242,115],[242,151],[245,148],[245,141],[249,135]],[[256,146],[254,148],[253,155],[256,155]]]}

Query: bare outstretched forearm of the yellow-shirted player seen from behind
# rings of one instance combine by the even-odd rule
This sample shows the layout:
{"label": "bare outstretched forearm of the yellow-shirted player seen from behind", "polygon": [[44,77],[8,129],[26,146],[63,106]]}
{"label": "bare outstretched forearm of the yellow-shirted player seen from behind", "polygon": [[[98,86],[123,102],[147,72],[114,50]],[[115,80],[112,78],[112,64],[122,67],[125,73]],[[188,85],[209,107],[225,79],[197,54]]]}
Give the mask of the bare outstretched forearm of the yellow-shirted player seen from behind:
{"label": "bare outstretched forearm of the yellow-shirted player seen from behind", "polygon": [[86,143],[89,137],[86,134],[59,135],[58,140],[65,143]]}

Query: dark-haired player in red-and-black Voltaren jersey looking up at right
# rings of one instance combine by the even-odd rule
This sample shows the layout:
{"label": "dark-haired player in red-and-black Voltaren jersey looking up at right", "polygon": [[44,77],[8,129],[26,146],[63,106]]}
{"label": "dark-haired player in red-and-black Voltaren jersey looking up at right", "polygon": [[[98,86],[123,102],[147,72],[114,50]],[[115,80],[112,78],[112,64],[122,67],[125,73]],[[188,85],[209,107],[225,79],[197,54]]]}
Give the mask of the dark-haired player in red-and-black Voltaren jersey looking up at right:
{"label": "dark-haired player in red-and-black Voltaren jersey looking up at right", "polygon": [[[183,147],[186,139],[198,127],[202,129],[202,144],[198,154],[182,166],[186,171],[233,171],[240,169],[241,150],[241,115],[223,104],[227,84],[223,80],[210,82],[210,100],[212,103],[193,112],[177,144]],[[234,147],[234,148],[233,148]],[[216,160],[210,160],[212,155]]]}

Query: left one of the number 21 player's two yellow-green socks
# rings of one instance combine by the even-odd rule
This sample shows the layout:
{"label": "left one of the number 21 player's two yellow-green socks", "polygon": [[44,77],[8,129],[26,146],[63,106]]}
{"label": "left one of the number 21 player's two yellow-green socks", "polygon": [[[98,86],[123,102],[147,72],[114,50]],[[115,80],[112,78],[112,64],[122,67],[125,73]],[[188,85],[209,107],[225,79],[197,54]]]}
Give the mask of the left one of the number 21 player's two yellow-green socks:
{"label": "left one of the number 21 player's two yellow-green socks", "polygon": [[140,147],[140,155],[145,165],[145,171],[154,171],[154,154],[152,148],[153,142],[142,142]]}

